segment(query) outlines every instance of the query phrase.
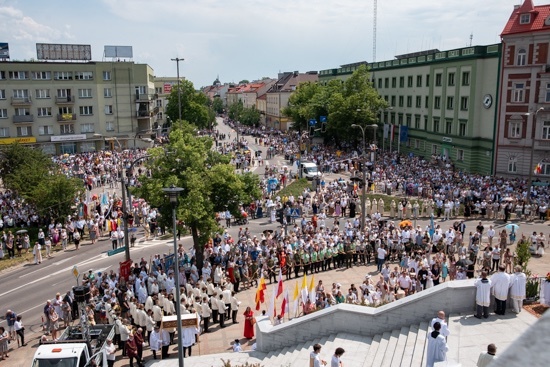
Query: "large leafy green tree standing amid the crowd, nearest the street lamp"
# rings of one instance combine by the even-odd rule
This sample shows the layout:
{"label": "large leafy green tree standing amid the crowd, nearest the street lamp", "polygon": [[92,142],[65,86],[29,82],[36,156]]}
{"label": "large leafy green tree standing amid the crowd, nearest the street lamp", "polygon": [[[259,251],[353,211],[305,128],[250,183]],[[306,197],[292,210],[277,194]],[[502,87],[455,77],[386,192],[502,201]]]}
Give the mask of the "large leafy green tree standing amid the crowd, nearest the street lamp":
{"label": "large leafy green tree standing amid the crowd, nearest the street lamp", "polygon": [[135,189],[136,195],[159,208],[161,225],[170,225],[171,208],[162,188],[173,184],[184,189],[177,217],[191,231],[200,268],[204,244],[220,231],[215,212],[229,209],[237,214],[239,204],[259,198],[259,178],[236,174],[229,158],[212,149],[212,139],[197,136],[196,128],[186,121],[174,124],[165,148],[171,154],[162,148],[149,150],[152,158],[146,164],[151,176],[140,178],[142,186]]}

